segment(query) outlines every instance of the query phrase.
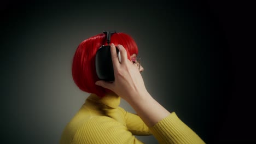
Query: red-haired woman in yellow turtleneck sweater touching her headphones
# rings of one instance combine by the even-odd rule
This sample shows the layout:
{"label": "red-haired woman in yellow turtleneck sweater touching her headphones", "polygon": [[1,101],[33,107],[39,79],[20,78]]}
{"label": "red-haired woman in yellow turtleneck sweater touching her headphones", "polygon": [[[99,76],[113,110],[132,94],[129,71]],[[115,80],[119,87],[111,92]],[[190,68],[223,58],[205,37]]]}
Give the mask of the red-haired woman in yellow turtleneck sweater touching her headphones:
{"label": "red-haired woman in yellow turtleneck sweater touching her headphones", "polygon": [[[106,45],[106,35],[84,40],[73,58],[74,82],[92,93],[67,124],[60,143],[142,143],[134,135],[154,135],[159,143],[204,143],[174,112],[168,112],[148,93],[137,61],[137,45],[125,33],[111,36],[110,51],[114,82],[99,80],[95,70],[98,48]],[[120,51],[121,62],[116,48]],[[137,115],[119,107],[126,100]]]}

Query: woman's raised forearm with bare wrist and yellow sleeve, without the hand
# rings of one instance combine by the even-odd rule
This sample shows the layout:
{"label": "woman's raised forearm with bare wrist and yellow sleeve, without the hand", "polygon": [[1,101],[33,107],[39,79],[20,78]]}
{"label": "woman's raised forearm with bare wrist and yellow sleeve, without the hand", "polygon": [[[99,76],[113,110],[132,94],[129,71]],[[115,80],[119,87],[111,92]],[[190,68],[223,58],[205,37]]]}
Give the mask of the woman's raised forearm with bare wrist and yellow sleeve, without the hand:
{"label": "woman's raised forearm with bare wrist and yellow sleeve, without the hand", "polygon": [[174,112],[168,112],[148,92],[130,98],[128,103],[160,143],[205,143]]}

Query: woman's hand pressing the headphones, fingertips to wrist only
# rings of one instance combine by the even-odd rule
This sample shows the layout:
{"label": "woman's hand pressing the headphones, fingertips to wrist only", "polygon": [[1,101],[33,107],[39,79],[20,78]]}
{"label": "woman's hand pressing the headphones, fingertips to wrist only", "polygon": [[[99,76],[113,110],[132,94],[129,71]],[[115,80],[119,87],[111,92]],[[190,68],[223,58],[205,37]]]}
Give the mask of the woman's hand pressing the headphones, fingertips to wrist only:
{"label": "woman's hand pressing the headphones, fingertips to wrist only", "polygon": [[129,101],[138,95],[144,95],[142,93],[147,93],[147,90],[137,65],[127,58],[127,52],[123,45],[118,45],[117,47],[120,51],[121,63],[119,62],[115,45],[110,45],[115,81],[97,81],[96,85],[110,89],[121,98]]}

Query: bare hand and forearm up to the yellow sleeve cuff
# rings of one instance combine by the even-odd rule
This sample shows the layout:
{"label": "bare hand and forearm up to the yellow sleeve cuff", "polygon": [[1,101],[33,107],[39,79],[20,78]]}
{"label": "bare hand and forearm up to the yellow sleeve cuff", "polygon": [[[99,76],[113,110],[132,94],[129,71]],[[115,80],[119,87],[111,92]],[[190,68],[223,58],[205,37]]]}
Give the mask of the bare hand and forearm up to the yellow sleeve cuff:
{"label": "bare hand and forearm up to the yellow sleeve cuff", "polygon": [[114,44],[110,46],[115,81],[112,83],[97,81],[96,85],[108,88],[118,94],[133,107],[148,127],[152,127],[161,119],[170,115],[170,112],[155,101],[147,92],[137,65],[127,59],[124,47],[122,45],[117,47],[121,54],[121,63],[119,63]]}

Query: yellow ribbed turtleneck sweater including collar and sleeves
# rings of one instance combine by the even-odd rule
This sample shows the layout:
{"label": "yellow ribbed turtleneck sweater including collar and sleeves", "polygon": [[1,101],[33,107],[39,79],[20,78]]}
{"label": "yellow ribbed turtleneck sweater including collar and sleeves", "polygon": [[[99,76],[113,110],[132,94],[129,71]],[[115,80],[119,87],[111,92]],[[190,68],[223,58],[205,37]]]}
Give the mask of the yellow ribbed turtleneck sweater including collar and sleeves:
{"label": "yellow ribbed turtleneck sweater including collar and sleeves", "polygon": [[204,143],[174,112],[148,128],[119,107],[120,97],[91,94],[66,125],[60,143],[142,143],[134,135],[154,135],[159,143]]}

